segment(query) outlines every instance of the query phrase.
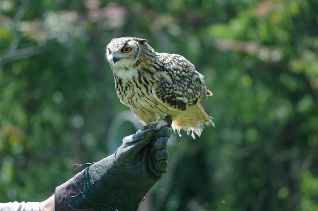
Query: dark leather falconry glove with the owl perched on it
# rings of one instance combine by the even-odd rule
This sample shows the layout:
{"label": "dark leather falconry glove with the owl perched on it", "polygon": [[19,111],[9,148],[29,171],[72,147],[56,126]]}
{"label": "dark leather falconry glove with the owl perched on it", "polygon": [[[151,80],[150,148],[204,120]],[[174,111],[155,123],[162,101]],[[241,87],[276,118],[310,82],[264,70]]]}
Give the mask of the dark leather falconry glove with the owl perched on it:
{"label": "dark leather falconry glove with the owl perched on it", "polygon": [[163,126],[125,137],[118,150],[55,189],[55,211],[137,210],[168,169],[170,129]]}

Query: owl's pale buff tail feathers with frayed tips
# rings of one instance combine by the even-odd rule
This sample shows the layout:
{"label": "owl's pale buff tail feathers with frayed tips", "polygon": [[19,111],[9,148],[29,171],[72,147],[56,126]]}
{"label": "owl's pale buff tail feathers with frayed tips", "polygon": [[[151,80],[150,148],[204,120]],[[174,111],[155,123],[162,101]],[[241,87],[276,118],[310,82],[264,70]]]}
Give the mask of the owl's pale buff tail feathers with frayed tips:
{"label": "owl's pale buff tail feathers with frayed tips", "polygon": [[[213,118],[210,117],[200,103],[189,106],[182,111],[180,115],[173,119],[172,128],[180,135],[180,130],[185,130],[187,134],[196,139],[195,134],[199,137],[205,125],[213,125]],[[180,135],[181,136],[181,135]]]}

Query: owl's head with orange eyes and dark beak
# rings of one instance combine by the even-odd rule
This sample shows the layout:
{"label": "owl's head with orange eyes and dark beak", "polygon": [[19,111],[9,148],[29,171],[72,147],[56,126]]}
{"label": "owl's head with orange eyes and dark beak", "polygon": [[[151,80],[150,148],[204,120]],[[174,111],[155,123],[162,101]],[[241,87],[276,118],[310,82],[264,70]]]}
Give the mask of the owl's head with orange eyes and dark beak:
{"label": "owl's head with orange eyes and dark beak", "polygon": [[146,39],[135,37],[113,38],[106,47],[106,58],[111,67],[128,68],[138,60]]}

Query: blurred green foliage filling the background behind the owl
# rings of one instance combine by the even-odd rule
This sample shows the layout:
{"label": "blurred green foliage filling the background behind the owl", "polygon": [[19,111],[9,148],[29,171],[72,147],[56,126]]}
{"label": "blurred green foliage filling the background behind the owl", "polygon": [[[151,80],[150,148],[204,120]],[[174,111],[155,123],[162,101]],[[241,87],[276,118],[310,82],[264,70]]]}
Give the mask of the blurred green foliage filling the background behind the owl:
{"label": "blurred green foliage filling the background behind the owl", "polygon": [[73,164],[109,154],[112,120],[127,108],[104,48],[136,36],[188,58],[214,94],[203,105],[215,128],[171,142],[145,210],[318,210],[317,8],[1,1],[0,201],[44,200],[79,171]]}

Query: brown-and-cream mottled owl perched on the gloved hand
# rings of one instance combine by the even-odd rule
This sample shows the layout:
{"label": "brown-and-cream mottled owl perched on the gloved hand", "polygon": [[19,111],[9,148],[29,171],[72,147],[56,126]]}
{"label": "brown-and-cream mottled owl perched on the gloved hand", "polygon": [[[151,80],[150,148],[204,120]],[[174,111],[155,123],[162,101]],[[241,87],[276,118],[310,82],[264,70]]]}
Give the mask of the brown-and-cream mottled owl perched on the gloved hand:
{"label": "brown-and-cream mottled owl perched on the gloved hand", "polygon": [[[170,120],[179,135],[182,129],[194,139],[205,125],[214,126],[200,104],[212,92],[203,75],[183,56],[157,53],[146,39],[121,37],[107,45],[106,59],[120,101],[144,126],[159,129]],[[158,121],[161,115],[166,118]]]}

